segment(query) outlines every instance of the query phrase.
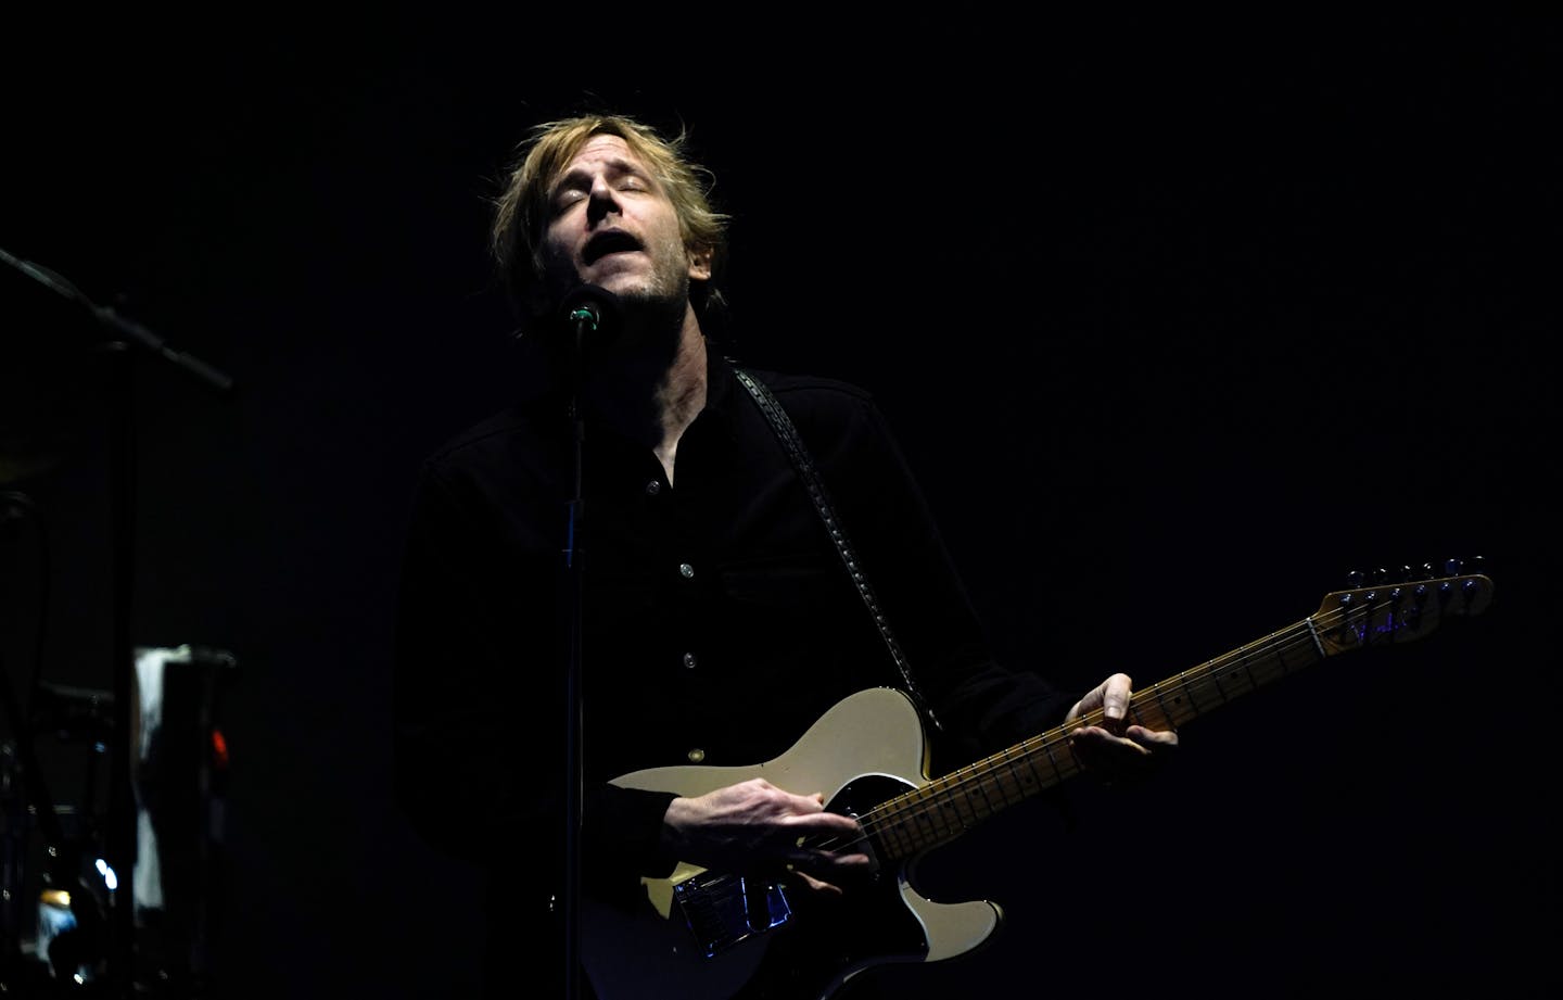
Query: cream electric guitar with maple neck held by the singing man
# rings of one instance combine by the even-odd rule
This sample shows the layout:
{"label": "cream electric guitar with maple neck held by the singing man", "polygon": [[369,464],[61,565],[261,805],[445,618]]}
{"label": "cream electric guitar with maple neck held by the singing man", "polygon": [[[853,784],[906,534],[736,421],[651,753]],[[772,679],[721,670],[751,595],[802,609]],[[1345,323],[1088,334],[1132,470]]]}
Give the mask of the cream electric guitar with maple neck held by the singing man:
{"label": "cream electric guitar with maple neck held by the singing man", "polygon": [[[1480,573],[1336,591],[1304,620],[1135,691],[1128,722],[1182,727],[1233,698],[1358,648],[1421,639],[1446,616],[1480,614],[1493,581]],[[1100,722],[1100,711],[1074,725]],[[838,702],[782,756],[753,767],[655,767],[622,788],[678,795],[749,778],[822,789],[827,809],[855,816],[875,875],[866,888],[816,900],[783,884],[680,862],[642,878],[631,898],[581,900],[581,961],[600,1000],[825,1000],[885,962],[964,955],[997,930],[988,900],[941,903],[914,888],[916,861],[1005,806],[1080,773],[1071,727],[1057,727],[930,780],[916,706],[874,688]],[[821,841],[817,847],[832,847]]]}

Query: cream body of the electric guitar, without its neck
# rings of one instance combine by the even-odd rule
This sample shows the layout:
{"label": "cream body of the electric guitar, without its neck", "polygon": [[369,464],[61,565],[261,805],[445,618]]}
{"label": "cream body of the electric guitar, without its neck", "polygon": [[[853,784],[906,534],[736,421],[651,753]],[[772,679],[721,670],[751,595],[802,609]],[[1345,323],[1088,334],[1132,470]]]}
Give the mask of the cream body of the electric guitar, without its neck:
{"label": "cream body of the electric guitar, without its neck", "polygon": [[[846,766],[860,770],[844,773]],[[824,789],[827,808],[860,814],[925,784],[925,767],[917,709],[899,691],[874,688],[839,702],[792,748],[758,767],[664,767],[617,784],[703,795],[766,778],[778,788]],[[688,881],[696,884],[685,895],[703,897],[694,931],[678,900]],[[583,900],[583,956],[602,1000],[819,1000],[874,964],[967,952],[999,925],[999,908],[985,900],[922,898],[897,864],[878,866],[869,884],[842,897],[772,892],[692,866],[642,883],[635,906]],[[747,898],[706,902],[741,888]]]}

